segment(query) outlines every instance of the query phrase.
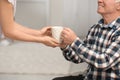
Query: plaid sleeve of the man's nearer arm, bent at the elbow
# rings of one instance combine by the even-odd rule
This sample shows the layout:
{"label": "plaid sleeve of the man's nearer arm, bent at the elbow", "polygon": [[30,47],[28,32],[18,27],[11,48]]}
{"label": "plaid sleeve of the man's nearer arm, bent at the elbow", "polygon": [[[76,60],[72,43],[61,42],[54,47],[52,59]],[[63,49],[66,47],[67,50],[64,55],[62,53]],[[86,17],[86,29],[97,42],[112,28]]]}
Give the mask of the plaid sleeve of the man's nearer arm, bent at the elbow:
{"label": "plaid sleeve of the man's nearer arm, bent at the elbow", "polygon": [[120,35],[113,36],[111,44],[105,52],[97,52],[84,45],[78,38],[72,43],[72,50],[88,64],[95,66],[100,70],[112,68],[120,61]]}

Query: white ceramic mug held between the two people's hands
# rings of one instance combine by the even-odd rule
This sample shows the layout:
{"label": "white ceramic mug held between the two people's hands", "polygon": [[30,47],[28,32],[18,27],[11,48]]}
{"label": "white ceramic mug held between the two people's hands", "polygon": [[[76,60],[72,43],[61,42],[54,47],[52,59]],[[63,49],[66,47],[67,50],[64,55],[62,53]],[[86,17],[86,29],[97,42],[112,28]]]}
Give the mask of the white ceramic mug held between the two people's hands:
{"label": "white ceramic mug held between the two people's hands", "polygon": [[53,26],[52,27],[52,36],[53,36],[53,38],[58,40],[59,43],[61,43],[60,36],[61,36],[62,30],[63,30],[62,26]]}

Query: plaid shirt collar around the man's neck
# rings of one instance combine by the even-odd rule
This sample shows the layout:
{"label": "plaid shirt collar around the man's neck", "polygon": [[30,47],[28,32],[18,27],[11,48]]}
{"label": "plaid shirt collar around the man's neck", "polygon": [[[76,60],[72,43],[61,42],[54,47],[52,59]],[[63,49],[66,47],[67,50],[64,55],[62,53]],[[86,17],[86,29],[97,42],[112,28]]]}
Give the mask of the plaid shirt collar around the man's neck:
{"label": "plaid shirt collar around the man's neck", "polygon": [[98,21],[98,24],[101,28],[117,29],[120,26],[120,17],[118,17],[116,20],[112,21],[107,25],[104,24],[104,19],[101,19],[100,21]]}

